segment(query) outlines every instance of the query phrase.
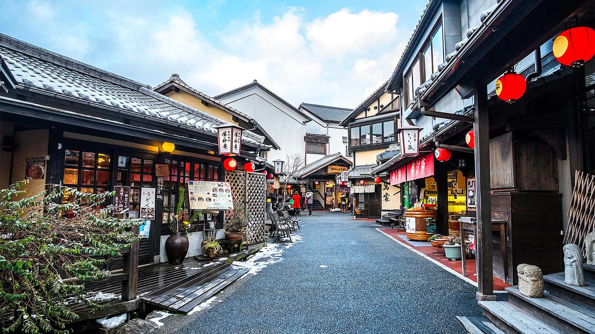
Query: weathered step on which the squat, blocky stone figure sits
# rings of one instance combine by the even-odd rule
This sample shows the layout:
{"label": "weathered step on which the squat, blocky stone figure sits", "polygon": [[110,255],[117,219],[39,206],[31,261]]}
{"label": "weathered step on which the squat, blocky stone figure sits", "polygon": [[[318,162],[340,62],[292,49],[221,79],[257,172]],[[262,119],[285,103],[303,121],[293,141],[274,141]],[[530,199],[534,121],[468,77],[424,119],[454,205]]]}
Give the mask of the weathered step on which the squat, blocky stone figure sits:
{"label": "weathered step on which the squat, blocky stone figure sits", "polygon": [[518,286],[506,288],[509,303],[550,324],[564,333],[595,333],[595,312],[588,307],[563,300],[544,292],[543,298],[531,298],[521,294]]}

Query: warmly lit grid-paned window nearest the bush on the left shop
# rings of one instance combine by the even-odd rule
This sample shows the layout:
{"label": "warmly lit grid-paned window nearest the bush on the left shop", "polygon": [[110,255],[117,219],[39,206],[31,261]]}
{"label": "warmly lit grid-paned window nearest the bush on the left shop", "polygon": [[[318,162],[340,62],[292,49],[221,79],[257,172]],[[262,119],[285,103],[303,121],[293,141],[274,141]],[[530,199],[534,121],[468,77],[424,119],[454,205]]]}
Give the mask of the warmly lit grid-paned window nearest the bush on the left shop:
{"label": "warmly lit grid-paned window nearest the bush on the left shop", "polygon": [[[62,183],[83,193],[104,193],[111,187],[110,163],[110,156],[104,153],[67,149]],[[66,193],[63,200],[70,201],[73,197]]]}

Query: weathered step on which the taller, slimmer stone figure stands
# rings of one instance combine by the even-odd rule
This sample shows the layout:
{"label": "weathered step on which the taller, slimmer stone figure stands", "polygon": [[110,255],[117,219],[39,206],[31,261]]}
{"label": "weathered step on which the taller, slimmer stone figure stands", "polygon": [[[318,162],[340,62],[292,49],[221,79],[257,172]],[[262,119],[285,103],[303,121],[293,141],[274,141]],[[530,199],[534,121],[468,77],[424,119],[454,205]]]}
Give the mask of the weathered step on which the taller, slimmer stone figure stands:
{"label": "weathered step on which the taller, slimmer stone figure stands", "polygon": [[564,273],[543,276],[544,290],[564,300],[576,301],[595,308],[595,283],[587,282],[586,286],[575,286],[564,283]]}

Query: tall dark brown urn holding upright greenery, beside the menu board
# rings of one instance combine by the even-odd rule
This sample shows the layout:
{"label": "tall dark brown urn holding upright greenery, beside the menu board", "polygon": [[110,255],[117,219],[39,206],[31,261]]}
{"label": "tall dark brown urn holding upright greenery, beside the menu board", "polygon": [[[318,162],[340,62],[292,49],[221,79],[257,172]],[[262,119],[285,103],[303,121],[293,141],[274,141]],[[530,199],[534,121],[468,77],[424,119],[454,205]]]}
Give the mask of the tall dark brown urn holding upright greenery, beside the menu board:
{"label": "tall dark brown urn holding upright greenery, beside the menu board", "polygon": [[184,203],[184,192],[184,188],[180,188],[176,214],[173,215],[170,213],[168,215],[171,235],[165,240],[165,254],[167,254],[167,260],[170,264],[181,264],[186,259],[190,245],[188,233],[193,228],[190,222],[196,220],[201,215],[201,212],[196,212],[192,218],[189,218],[189,210],[182,207]]}

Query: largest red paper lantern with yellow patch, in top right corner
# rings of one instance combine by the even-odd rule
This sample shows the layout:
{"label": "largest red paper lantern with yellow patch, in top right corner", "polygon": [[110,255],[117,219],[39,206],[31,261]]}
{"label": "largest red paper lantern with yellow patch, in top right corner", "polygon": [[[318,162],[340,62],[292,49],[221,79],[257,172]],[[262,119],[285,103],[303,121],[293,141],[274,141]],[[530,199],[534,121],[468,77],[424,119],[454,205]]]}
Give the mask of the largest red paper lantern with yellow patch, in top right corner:
{"label": "largest red paper lantern with yellow patch, in top right corner", "polygon": [[580,67],[595,55],[595,30],[574,27],[559,34],[552,47],[560,64]]}

